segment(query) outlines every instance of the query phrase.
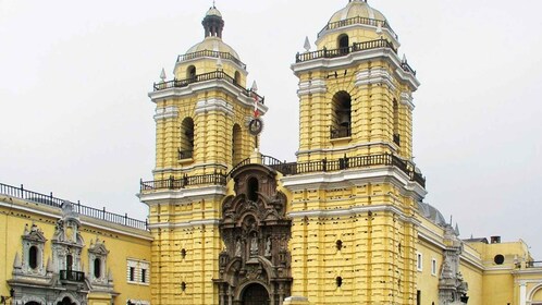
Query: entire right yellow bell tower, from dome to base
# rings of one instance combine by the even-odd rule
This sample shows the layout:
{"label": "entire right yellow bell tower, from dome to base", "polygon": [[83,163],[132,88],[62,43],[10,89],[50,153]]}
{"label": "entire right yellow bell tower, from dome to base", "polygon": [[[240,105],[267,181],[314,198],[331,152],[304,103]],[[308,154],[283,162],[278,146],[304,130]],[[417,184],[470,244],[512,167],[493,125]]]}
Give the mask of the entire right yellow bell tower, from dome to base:
{"label": "entire right yellow bell tower, from dome to base", "polygon": [[297,53],[299,149],[292,193],[292,295],[311,304],[416,304],[416,72],[367,1],[350,0]]}

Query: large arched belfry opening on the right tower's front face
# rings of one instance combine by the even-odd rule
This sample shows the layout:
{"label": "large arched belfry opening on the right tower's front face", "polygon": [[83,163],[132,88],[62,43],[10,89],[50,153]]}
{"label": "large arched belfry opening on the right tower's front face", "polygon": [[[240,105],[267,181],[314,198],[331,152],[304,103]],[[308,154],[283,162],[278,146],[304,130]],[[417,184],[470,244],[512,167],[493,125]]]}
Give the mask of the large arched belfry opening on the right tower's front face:
{"label": "large arched belfry opening on the right tower's front face", "polygon": [[352,97],[346,91],[338,91],[332,100],[331,138],[352,135]]}

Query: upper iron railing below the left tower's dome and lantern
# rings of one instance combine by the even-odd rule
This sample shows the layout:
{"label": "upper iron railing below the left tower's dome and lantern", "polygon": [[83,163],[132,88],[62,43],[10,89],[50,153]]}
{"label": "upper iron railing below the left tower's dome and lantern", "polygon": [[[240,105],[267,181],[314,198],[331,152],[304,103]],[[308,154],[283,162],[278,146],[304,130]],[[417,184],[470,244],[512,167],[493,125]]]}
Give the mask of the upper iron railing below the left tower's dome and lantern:
{"label": "upper iron railing below the left tower's dome and lantern", "polygon": [[160,90],[165,90],[165,89],[171,89],[171,88],[186,87],[189,84],[194,84],[194,83],[201,83],[201,82],[215,81],[215,80],[223,80],[223,81],[226,81],[227,83],[235,85],[237,88],[241,89],[242,94],[244,94],[247,97],[257,98],[258,101],[261,103],[263,103],[263,101],[266,99],[264,97],[258,95],[257,93],[252,91],[251,89],[247,89],[247,88],[241,86],[237,83],[237,81],[235,81],[234,77],[230,76],[224,71],[213,71],[213,72],[209,72],[209,73],[198,74],[198,75],[194,75],[194,77],[188,77],[185,80],[173,80],[173,81],[169,81],[169,82],[155,83],[152,87],[153,87],[155,91],[160,91]]}

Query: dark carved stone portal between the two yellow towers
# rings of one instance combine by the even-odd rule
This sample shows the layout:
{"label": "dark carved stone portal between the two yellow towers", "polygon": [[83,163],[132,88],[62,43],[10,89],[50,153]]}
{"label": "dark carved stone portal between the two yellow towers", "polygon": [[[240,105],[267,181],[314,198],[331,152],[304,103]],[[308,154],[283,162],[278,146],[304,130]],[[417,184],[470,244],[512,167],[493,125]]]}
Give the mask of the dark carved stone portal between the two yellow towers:
{"label": "dark carved stone portal between the two yellow towers", "polygon": [[220,233],[226,248],[219,257],[220,279],[214,280],[221,305],[282,305],[291,295],[292,221],[275,175],[259,164],[232,173],[236,195],[222,203]]}

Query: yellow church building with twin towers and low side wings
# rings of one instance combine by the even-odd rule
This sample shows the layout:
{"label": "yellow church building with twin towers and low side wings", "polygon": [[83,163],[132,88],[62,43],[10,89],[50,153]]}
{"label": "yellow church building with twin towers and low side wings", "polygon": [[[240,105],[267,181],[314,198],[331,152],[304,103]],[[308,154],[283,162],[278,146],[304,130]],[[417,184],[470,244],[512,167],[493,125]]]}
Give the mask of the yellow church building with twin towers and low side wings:
{"label": "yellow church building with twin towers and low side wings", "polygon": [[0,184],[1,304],[542,305],[525,242],[423,203],[420,83],[381,12],[350,0],[295,54],[295,162],[260,154],[266,100],[215,7],[202,26],[149,93],[148,221]]}

